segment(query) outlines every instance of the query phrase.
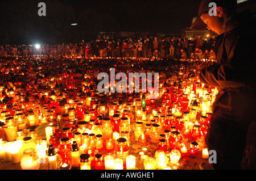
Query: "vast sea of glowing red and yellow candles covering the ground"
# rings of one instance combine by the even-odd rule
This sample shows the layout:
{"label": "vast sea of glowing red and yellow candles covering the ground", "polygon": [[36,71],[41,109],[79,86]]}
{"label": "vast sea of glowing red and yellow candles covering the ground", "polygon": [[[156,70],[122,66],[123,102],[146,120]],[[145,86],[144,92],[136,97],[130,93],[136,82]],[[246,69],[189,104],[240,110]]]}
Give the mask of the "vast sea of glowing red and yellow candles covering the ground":
{"label": "vast sea of glowing red and yellow candles covering the ground", "polygon": [[[47,57],[39,57],[39,60],[48,61]],[[46,161],[56,160],[56,155],[59,155],[60,162],[63,161],[62,168],[94,169],[94,155],[101,153],[103,169],[106,170],[138,169],[139,165],[135,164],[138,161],[141,161],[142,169],[166,169],[170,166],[168,164],[176,165],[180,157],[189,157],[189,153],[193,152],[189,149],[191,142],[205,137],[210,108],[216,95],[214,87],[200,83],[196,76],[199,68],[193,61],[188,60],[186,64],[181,61],[172,66],[173,71],[159,71],[160,91],[156,99],[148,99],[152,92],[127,92],[126,96],[118,92],[98,92],[96,81],[99,71],[91,61],[97,60],[89,60],[90,69],[82,76],[70,69],[51,77],[39,74],[35,79],[32,74],[26,74],[24,82],[0,82],[0,119],[5,124],[2,125],[0,159],[19,163],[24,153],[23,138],[27,136],[31,136],[36,144],[34,151],[42,167],[46,166]],[[126,61],[125,68],[130,70],[129,65],[135,60],[113,61],[120,67],[121,62]],[[196,63],[210,65],[212,61]],[[20,66],[18,62],[16,64]],[[135,86],[134,83],[131,85]],[[111,88],[108,85],[108,89]],[[6,95],[13,99],[6,100]],[[33,129],[35,132],[31,133]],[[174,131],[179,132],[181,139],[179,143],[173,139],[170,145]],[[60,141],[61,138],[69,140]],[[122,144],[118,148],[119,138],[126,140],[126,150],[123,150],[125,147]],[[72,152],[74,142],[77,150]],[[179,146],[172,149],[171,146],[177,144]],[[154,150],[146,148],[148,145],[152,145]],[[50,148],[56,153],[48,155]],[[127,148],[130,148],[130,153]],[[125,158],[117,158],[117,149],[117,155],[123,154]],[[163,151],[162,156],[152,154],[158,150]],[[89,154],[90,157],[82,154]],[[207,154],[207,149],[203,149],[202,158],[207,159]],[[81,155],[84,158],[82,162]],[[61,169],[60,164],[53,168]]]}

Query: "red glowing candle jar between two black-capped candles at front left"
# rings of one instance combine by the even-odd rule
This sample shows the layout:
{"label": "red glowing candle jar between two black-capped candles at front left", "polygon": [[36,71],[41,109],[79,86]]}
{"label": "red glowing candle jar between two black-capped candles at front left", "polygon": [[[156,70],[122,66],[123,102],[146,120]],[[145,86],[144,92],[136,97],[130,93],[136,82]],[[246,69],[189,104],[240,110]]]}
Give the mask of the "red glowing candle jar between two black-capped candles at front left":
{"label": "red glowing candle jar between two black-capped candles at front left", "polygon": [[57,150],[62,158],[63,165],[68,165],[71,162],[71,149],[70,139],[67,137],[61,138]]}

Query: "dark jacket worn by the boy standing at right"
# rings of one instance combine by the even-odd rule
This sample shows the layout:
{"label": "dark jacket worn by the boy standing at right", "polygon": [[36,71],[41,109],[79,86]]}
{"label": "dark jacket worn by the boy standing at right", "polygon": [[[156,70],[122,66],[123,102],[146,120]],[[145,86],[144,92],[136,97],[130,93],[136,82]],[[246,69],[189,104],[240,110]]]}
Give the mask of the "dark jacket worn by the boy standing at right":
{"label": "dark jacket worn by the boy standing at right", "polygon": [[255,121],[255,45],[253,15],[229,18],[224,33],[216,37],[217,63],[202,69],[200,81],[217,87],[214,114],[240,123]]}

